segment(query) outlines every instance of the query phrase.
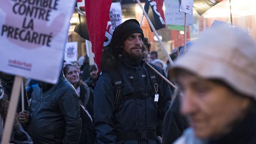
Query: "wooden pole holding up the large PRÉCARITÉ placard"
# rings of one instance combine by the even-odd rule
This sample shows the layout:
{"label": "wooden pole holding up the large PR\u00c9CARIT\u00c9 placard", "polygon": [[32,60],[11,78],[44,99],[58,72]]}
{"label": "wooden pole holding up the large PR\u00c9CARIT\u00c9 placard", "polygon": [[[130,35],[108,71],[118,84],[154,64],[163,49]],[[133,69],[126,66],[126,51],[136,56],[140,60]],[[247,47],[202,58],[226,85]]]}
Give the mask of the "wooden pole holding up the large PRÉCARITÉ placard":
{"label": "wooden pole holding up the large PR\u00c9CARIT\u00c9 placard", "polygon": [[15,76],[14,83],[12,87],[12,94],[10,97],[10,103],[8,106],[7,116],[4,123],[4,131],[2,135],[2,141],[1,144],[9,144],[10,143],[10,137],[12,135],[12,127],[14,123],[14,118],[16,115],[16,109],[19,102],[19,96],[20,96],[20,86],[22,81],[21,76]]}

